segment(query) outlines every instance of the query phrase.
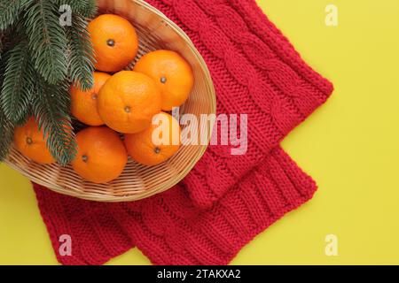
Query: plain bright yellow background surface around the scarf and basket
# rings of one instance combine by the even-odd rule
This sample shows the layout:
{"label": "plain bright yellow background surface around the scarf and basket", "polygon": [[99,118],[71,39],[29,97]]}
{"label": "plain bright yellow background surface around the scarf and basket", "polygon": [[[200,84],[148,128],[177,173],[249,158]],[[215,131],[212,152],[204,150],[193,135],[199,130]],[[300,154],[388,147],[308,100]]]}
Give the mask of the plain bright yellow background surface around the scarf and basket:
{"label": "plain bright yellow background surface around the scarf and basket", "polygon": [[[399,264],[399,1],[259,0],[332,98],[283,142],[317,180],[314,199],[232,264]],[[339,26],[325,26],[325,6]],[[336,234],[339,255],[325,256]],[[0,165],[0,264],[58,264],[27,179]],[[149,264],[137,249],[110,264]]]}

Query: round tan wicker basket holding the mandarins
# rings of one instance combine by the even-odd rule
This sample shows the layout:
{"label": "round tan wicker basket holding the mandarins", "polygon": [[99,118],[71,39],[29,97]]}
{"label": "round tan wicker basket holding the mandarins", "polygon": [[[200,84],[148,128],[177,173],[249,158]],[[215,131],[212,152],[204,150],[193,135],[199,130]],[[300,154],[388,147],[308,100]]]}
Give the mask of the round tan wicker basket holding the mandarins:
{"label": "round tan wicker basket holding the mandarins", "polygon": [[[136,27],[140,40],[137,58],[152,50],[176,50],[192,65],[195,86],[180,109],[181,115],[192,113],[200,118],[200,114],[215,114],[215,88],[207,65],[176,24],[141,0],[99,0],[98,7],[100,13],[119,14]],[[212,126],[207,126],[208,137]],[[201,130],[206,130],[205,126]],[[99,202],[123,202],[143,199],[173,187],[190,172],[206,149],[206,145],[182,146],[174,157],[153,167],[129,159],[117,180],[101,185],[82,180],[71,166],[36,164],[16,149],[11,150],[5,162],[28,179],[61,194]]]}

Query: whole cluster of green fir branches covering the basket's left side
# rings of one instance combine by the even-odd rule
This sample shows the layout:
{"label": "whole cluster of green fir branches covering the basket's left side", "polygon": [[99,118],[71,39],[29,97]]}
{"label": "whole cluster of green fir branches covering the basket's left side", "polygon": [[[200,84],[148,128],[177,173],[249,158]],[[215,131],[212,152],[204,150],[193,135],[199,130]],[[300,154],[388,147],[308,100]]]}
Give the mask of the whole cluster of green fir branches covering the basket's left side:
{"label": "whole cluster of green fir branches covering the basket's left side", "polygon": [[[72,26],[59,22],[62,4]],[[76,154],[70,118],[70,83],[92,86],[93,50],[86,19],[95,0],[0,0],[0,160],[14,126],[34,115],[51,155],[68,164]]]}

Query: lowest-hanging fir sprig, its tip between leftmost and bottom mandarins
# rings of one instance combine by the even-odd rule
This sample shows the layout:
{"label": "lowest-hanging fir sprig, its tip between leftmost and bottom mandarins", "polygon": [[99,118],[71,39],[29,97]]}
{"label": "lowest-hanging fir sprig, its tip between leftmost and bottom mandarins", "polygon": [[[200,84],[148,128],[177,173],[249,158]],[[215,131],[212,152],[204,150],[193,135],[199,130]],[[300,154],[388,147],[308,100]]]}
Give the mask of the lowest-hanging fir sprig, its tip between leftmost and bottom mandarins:
{"label": "lowest-hanging fir sprig, its tip between leftmost and bottom mandarins", "polygon": [[38,88],[32,101],[32,111],[40,128],[43,128],[51,155],[64,166],[76,155],[74,131],[69,116],[69,87],[66,82],[51,85],[41,77],[37,79]]}

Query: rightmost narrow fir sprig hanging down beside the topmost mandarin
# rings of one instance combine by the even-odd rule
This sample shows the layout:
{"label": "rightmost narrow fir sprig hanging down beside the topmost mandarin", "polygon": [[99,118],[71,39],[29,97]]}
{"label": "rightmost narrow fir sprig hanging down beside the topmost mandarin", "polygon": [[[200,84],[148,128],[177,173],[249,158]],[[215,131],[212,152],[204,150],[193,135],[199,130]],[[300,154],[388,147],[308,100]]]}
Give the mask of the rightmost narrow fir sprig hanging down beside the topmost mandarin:
{"label": "rightmost narrow fir sprig hanging down beside the topmost mandarin", "polygon": [[90,34],[86,29],[87,21],[82,16],[74,15],[71,27],[66,28],[69,40],[68,77],[72,83],[78,84],[82,90],[93,87],[94,50]]}

